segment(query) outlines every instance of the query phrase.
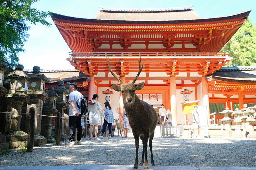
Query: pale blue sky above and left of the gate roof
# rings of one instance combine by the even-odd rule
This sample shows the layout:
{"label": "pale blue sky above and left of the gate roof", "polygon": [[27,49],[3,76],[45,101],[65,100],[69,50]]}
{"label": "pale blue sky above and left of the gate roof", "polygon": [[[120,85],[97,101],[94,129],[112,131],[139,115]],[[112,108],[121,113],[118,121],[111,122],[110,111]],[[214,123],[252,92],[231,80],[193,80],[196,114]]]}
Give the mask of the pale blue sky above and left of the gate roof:
{"label": "pale blue sky above and left of the gate roof", "polygon": [[[40,0],[32,5],[40,11],[50,11],[61,15],[77,18],[95,18],[100,6],[107,8],[169,8],[182,7],[193,4],[193,10],[199,17],[220,17],[233,15],[242,11],[251,11],[249,17],[256,23],[255,0]],[[66,58],[70,49],[60,35],[51,18],[47,21],[52,26],[36,24],[28,31],[30,37],[25,42],[25,53],[19,53],[20,64],[24,69],[39,66],[44,70],[74,69]]]}

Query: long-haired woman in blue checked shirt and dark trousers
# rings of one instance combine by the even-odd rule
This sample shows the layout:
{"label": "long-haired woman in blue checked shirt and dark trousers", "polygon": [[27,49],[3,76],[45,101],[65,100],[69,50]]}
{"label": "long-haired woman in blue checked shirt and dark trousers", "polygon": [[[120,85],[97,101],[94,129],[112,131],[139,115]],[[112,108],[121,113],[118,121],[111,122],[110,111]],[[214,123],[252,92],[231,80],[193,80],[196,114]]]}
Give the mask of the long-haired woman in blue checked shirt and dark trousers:
{"label": "long-haired woman in blue checked shirt and dark trousers", "polygon": [[112,123],[114,123],[114,115],[113,115],[113,111],[112,108],[109,104],[108,101],[105,101],[105,117],[104,117],[104,122],[103,122],[103,128],[101,131],[101,136],[99,138],[103,138],[103,134],[107,128],[108,125],[108,132],[109,132],[109,137],[111,138],[111,134],[112,134]]}

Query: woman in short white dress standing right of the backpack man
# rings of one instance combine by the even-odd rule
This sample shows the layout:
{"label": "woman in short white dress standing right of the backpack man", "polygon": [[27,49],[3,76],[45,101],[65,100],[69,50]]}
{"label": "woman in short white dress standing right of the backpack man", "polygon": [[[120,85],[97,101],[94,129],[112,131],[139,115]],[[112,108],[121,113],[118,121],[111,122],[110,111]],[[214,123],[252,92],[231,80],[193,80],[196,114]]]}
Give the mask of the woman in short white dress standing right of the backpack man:
{"label": "woman in short white dress standing right of the backpack man", "polygon": [[97,137],[98,134],[98,126],[99,126],[99,122],[100,122],[100,111],[101,111],[101,106],[100,103],[96,100],[98,100],[99,96],[98,94],[93,94],[92,96],[92,100],[89,100],[88,102],[88,106],[89,106],[89,110],[90,110],[90,114],[89,114],[89,124],[90,124],[90,139],[92,139],[92,130],[94,127],[94,140],[100,140]]}

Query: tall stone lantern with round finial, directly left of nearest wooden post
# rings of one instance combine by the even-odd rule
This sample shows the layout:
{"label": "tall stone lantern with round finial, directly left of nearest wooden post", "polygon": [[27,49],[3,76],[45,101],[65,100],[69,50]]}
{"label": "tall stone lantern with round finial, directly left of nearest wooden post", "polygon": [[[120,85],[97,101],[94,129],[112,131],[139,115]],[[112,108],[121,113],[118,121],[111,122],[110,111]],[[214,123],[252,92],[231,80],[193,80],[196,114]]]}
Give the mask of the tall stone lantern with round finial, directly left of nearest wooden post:
{"label": "tall stone lantern with round finial, directly left of nearest wooden post", "polygon": [[[6,111],[14,112],[11,114],[9,119],[6,116],[5,122],[11,122],[10,131],[6,133],[6,141],[10,144],[10,148],[20,148],[26,147],[28,135],[20,131],[21,122],[21,109],[24,102],[26,102],[30,97],[26,94],[28,91],[28,80],[30,77],[23,71],[23,66],[18,64],[15,65],[15,70],[8,74],[10,79],[10,90],[9,93],[5,95]],[[6,124],[7,125],[7,124]],[[5,126],[5,130],[8,127]]]}

